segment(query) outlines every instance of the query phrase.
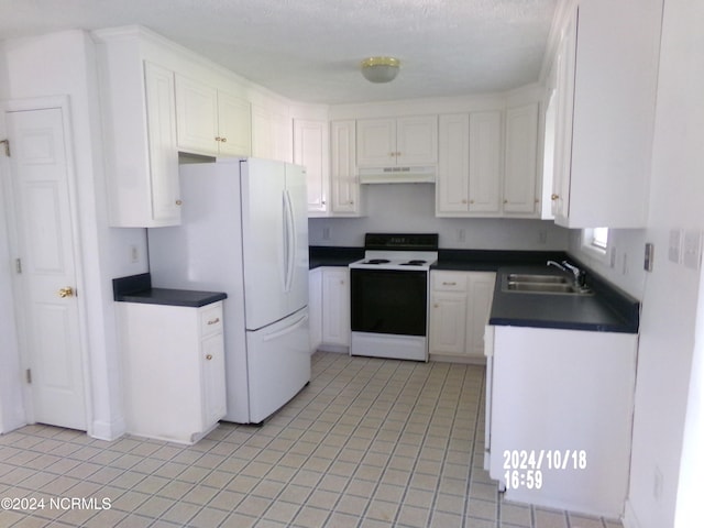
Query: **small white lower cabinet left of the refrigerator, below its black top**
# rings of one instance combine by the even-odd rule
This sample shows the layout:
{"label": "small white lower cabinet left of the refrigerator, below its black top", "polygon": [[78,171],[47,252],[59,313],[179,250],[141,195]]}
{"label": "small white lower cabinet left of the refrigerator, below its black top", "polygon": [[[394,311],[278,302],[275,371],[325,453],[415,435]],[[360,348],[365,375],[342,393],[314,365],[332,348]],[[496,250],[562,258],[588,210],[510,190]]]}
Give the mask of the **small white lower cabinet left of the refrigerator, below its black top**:
{"label": "small white lower cabinet left of the refrigerator, below its black top", "polygon": [[118,302],[127,430],[195,443],[226,414],[222,302]]}

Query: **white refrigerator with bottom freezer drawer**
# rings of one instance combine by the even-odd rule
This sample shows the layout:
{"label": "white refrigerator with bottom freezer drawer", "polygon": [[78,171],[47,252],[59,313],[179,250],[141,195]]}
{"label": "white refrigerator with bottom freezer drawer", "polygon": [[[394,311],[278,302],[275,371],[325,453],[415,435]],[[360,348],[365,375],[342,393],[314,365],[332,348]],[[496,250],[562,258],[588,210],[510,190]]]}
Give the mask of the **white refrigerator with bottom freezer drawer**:
{"label": "white refrigerator with bottom freezer drawer", "polygon": [[310,381],[302,167],[180,166],[182,226],[148,230],[154,287],[226,292],[228,421],[260,424]]}

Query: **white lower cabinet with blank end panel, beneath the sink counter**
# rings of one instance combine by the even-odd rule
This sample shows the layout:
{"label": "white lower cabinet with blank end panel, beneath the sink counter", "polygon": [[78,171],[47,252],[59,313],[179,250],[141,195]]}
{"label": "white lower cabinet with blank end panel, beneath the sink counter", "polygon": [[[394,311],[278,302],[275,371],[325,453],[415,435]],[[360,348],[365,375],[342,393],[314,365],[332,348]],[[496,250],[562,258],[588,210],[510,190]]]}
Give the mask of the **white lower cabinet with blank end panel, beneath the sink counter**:
{"label": "white lower cabinet with blank end panel, beneath the sink counter", "polygon": [[638,336],[488,326],[484,468],[505,498],[620,517]]}

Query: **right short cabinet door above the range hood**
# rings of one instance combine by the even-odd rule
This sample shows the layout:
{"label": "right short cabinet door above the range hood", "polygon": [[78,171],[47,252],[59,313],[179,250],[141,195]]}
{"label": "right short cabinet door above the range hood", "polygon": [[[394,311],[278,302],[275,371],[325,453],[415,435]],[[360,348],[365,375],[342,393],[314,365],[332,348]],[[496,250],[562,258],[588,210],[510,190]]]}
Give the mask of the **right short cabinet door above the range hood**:
{"label": "right short cabinet door above the range hood", "polygon": [[396,120],[396,164],[438,163],[438,118],[421,116]]}

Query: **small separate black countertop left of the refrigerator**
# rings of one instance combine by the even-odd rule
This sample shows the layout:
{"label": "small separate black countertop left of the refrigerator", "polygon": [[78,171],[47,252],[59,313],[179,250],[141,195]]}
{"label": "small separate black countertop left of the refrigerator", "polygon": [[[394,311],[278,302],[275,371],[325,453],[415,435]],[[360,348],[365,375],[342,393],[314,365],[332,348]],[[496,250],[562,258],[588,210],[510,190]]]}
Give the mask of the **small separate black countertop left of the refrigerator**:
{"label": "small separate black countertop left of the refrigerator", "polygon": [[220,292],[197,292],[193,289],[152,288],[148,273],[112,279],[114,300],[147,305],[183,306],[200,308],[228,298]]}

